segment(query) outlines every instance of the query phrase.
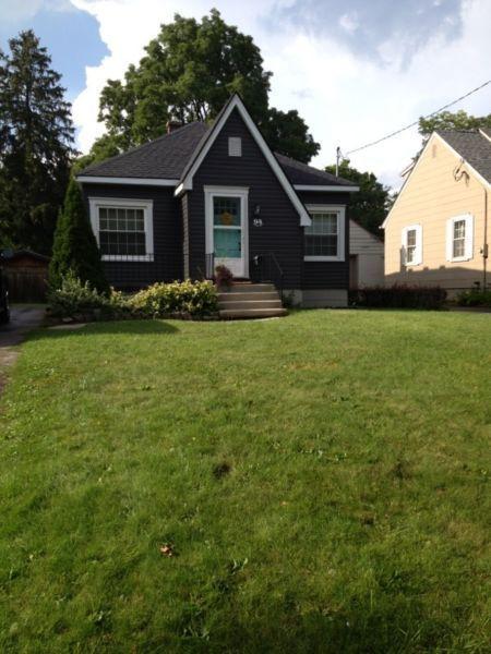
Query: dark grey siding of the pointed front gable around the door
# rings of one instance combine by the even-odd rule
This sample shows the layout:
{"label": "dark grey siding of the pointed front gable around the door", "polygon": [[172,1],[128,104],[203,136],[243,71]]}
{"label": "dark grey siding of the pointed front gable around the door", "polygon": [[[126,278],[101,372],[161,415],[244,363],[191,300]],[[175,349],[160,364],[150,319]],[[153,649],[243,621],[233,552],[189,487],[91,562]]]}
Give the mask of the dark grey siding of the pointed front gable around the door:
{"label": "dark grey siding of the pointed front gable around the door", "polygon": [[[242,156],[228,156],[228,137],[242,138]],[[189,193],[191,275],[205,270],[204,185],[249,187],[249,257],[274,252],[285,274],[285,288],[301,288],[303,229],[300,217],[264,158],[238,111],[233,111],[203,164]],[[263,227],[254,227],[253,209],[261,206]]]}

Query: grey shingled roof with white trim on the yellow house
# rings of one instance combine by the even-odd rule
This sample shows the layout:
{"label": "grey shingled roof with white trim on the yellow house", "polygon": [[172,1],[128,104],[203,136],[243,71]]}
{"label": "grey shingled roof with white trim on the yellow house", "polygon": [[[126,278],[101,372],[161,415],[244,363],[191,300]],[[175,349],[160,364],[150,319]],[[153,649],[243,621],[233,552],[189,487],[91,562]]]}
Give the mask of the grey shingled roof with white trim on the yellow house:
{"label": "grey shingled roof with white trim on the yellow house", "polygon": [[[418,168],[419,162],[422,160],[423,153],[433,144],[435,138],[443,142],[456,157],[459,157],[467,164],[467,166],[474,171],[475,175],[486,185],[491,186],[491,141],[482,134],[483,130],[439,130],[431,134],[427,141],[422,152],[419,154],[416,162],[408,169],[409,172],[404,180],[400,191],[396,197],[395,203],[392,205],[385,220],[382,223],[382,229],[386,227],[391,214],[394,207],[399,202],[409,180],[411,179],[415,170]],[[489,132],[489,130],[488,130]]]}

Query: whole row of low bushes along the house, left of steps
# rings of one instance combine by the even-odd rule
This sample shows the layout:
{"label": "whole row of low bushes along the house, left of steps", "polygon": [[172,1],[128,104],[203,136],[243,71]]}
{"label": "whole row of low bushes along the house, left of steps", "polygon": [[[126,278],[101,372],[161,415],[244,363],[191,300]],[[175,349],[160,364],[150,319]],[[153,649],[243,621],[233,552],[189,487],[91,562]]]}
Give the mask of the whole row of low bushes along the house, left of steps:
{"label": "whole row of low bushes along the house, left of steps", "polygon": [[75,320],[202,317],[217,312],[215,287],[208,281],[155,283],[132,296],[109,294],[82,283],[70,271],[59,289],[48,294],[49,313],[55,318]]}

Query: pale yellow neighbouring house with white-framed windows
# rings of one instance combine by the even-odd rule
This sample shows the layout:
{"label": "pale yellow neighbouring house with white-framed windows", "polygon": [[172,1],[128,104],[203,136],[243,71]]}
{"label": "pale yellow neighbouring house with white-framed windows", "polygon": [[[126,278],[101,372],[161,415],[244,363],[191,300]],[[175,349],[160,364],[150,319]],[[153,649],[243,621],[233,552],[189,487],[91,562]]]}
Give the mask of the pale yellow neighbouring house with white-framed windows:
{"label": "pale yellow neighbouring house with white-framed windows", "polygon": [[490,223],[491,130],[434,132],[382,226],[385,283],[490,287]]}

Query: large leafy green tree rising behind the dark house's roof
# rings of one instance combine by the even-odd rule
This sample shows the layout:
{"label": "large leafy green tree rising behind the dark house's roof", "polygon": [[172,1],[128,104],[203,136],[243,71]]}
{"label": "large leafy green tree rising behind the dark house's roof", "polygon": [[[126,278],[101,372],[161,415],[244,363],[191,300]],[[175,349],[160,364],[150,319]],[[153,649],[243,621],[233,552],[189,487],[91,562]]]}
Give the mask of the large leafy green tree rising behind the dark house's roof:
{"label": "large leafy green tree rising behind the dark house's roof", "polygon": [[319,152],[297,111],[268,107],[271,73],[260,49],[217,10],[201,22],[177,14],[145,51],[123,82],[109,80],[101,92],[99,120],[107,134],[103,148],[94,145],[93,160],[107,152],[108,141],[122,152],[160,136],[169,119],[212,120],[232,93],[242,96],[275,149],[306,162]]}

